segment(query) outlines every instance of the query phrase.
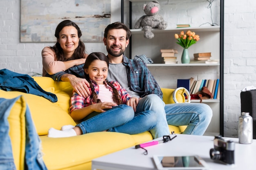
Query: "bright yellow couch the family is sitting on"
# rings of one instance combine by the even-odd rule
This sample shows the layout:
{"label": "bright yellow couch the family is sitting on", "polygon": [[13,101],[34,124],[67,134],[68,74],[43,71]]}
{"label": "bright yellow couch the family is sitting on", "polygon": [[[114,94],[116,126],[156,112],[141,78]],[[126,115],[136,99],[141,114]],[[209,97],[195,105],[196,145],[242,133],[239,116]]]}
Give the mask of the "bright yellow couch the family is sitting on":
{"label": "bright yellow couch the family is sitting on", "polygon": [[[33,77],[34,80],[47,92],[56,94],[58,102],[33,94],[17,91],[6,92],[0,90],[0,98],[22,97],[14,104],[10,111],[8,121],[10,124],[9,135],[13,149],[13,158],[17,170],[24,169],[25,157],[25,107],[26,103],[31,112],[36,131],[42,141],[43,160],[49,170],[90,170],[91,161],[97,157],[122,150],[136,144],[152,140],[149,132],[137,135],[128,135],[115,132],[97,132],[85,135],[49,138],[48,129],[76,123],[69,115],[70,97],[72,87],[67,82],[56,82],[48,77]],[[164,102],[173,103],[173,89],[162,89]],[[182,91],[178,93],[178,101],[184,102]],[[107,123],[107,122],[106,122]],[[185,126],[170,126],[171,131],[180,133]]]}

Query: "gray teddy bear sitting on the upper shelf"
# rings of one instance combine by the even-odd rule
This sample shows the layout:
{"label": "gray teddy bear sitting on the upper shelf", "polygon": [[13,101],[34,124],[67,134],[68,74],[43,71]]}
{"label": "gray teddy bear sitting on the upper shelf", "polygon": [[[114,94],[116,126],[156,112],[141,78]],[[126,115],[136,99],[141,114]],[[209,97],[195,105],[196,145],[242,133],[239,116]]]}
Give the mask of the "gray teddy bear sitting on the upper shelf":
{"label": "gray teddy bear sitting on the upper shelf", "polygon": [[144,31],[144,37],[147,39],[152,39],[154,37],[152,28],[164,30],[167,27],[167,23],[164,21],[162,16],[158,14],[160,4],[157,0],[144,4],[143,9],[146,15],[143,15],[139,18],[139,20],[137,20],[135,23],[135,29],[139,29],[141,27]]}

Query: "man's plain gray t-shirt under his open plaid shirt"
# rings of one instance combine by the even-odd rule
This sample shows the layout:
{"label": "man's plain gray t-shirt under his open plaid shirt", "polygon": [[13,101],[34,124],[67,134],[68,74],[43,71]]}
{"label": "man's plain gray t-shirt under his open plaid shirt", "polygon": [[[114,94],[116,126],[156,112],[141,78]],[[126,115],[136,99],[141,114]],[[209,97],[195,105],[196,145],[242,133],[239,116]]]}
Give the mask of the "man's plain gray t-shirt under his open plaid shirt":
{"label": "man's plain gray t-shirt under his open plaid shirt", "polygon": [[139,98],[139,94],[133,92],[128,85],[128,78],[126,73],[126,66],[123,63],[113,64],[109,63],[108,81],[117,81],[132,97]]}

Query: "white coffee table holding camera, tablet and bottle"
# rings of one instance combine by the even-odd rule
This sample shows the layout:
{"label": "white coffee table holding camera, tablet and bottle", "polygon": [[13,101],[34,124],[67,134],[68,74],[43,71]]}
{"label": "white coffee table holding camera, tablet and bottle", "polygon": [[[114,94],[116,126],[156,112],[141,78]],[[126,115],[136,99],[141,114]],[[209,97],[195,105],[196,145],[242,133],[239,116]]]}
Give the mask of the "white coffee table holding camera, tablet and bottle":
{"label": "white coffee table holding camera, tablet and bottle", "polygon": [[238,138],[224,138],[235,142],[235,164],[226,165],[211,159],[209,153],[213,148],[213,136],[177,134],[177,137],[169,142],[145,147],[148,155],[144,155],[145,150],[141,148],[130,147],[93,159],[92,170],[157,170],[153,155],[198,155],[207,162],[211,170],[255,170],[256,139],[252,144],[239,144]]}

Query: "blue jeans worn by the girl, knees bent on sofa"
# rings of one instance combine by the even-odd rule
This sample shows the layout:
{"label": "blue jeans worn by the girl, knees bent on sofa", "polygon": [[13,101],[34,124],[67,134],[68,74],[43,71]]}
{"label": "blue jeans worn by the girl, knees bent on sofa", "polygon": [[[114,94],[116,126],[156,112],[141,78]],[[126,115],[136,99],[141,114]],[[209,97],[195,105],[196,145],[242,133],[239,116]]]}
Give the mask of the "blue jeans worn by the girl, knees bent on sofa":
{"label": "blue jeans worn by the girl, knees bent on sofa", "polygon": [[153,111],[147,110],[134,113],[132,107],[119,105],[82,121],[76,126],[80,127],[83,134],[107,130],[109,132],[133,135],[149,131],[155,127],[156,122],[156,113]]}

